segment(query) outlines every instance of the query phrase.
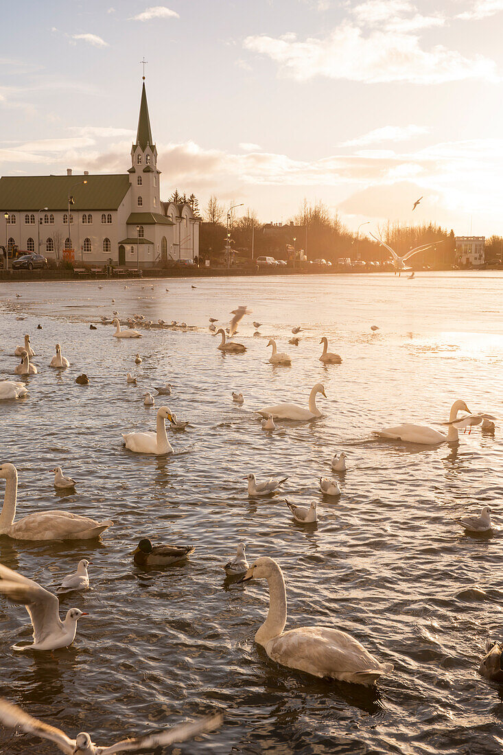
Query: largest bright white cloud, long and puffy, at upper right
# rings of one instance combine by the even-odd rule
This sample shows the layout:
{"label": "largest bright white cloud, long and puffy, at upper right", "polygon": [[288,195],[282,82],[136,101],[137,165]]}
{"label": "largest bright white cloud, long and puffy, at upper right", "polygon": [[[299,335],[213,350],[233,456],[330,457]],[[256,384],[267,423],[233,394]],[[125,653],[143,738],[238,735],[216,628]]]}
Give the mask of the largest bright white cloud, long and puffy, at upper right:
{"label": "largest bright white cloud, long and puffy, at upper right", "polygon": [[441,84],[464,79],[497,81],[495,62],[476,55],[463,57],[436,45],[421,48],[417,35],[395,30],[373,30],[367,35],[344,22],[324,38],[248,36],[246,49],[269,57],[283,75],[308,81],[316,76],[354,82],[409,82]]}

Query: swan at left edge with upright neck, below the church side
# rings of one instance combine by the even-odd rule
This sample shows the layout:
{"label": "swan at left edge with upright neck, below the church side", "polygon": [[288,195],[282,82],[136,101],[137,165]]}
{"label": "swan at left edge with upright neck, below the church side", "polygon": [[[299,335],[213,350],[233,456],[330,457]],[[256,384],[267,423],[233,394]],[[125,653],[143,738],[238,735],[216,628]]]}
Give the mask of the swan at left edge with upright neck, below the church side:
{"label": "swan at left edge with upright neck, below the church side", "polygon": [[0,535],[8,535],[14,540],[91,540],[113,525],[110,519],[96,522],[88,516],[58,510],[29,514],[14,522],[17,502],[17,469],[14,464],[2,464],[0,478],[5,479]]}

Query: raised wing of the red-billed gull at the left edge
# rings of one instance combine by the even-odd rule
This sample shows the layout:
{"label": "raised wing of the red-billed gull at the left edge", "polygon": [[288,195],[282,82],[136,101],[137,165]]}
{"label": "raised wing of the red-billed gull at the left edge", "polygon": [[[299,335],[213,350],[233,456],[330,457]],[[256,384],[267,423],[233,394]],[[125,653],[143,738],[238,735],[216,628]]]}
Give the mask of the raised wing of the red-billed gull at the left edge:
{"label": "raised wing of the red-billed gull at the left edge", "polygon": [[46,637],[63,633],[60,602],[39,584],[0,564],[0,592],[14,603],[26,606],[33,624],[33,639],[42,643]]}

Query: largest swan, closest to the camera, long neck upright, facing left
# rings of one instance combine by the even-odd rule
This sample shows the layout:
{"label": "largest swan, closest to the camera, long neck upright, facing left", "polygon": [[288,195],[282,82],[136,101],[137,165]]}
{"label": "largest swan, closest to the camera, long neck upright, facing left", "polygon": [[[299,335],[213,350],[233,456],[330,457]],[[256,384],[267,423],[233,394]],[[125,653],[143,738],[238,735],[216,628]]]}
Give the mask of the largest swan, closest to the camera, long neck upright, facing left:
{"label": "largest swan, closest to the camera, long neck upright, facing left", "polygon": [[279,564],[263,556],[248,569],[240,582],[267,579],[269,612],[255,634],[269,658],[276,663],[320,678],[331,678],[370,686],[393,670],[393,664],[380,663],[357,639],[331,627],[298,627],[284,631],[286,611],[285,580]]}

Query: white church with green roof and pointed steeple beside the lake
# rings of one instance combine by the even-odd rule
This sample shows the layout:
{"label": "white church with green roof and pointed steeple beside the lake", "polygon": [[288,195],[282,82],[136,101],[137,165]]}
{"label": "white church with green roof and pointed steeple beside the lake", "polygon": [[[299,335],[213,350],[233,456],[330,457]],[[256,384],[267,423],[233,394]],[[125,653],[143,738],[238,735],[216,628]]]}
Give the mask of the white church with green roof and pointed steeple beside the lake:
{"label": "white church with green roof and pointed steeple beside the lake", "polygon": [[[190,205],[161,202],[157,148],[143,77],[131,168],[125,174],[0,178],[0,244],[75,265],[165,267],[199,257],[199,223]],[[42,208],[42,209],[41,209]]]}

